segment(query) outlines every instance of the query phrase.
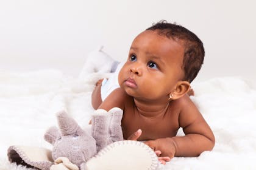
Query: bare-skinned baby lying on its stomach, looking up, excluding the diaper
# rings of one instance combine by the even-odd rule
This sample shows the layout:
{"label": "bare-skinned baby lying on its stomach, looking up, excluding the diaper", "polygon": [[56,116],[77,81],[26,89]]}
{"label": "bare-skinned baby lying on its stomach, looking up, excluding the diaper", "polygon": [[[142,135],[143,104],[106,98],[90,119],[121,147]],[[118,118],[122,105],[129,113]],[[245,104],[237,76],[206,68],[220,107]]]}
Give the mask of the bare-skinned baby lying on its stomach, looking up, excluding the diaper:
{"label": "bare-skinned baby lying on its stomach, looking up, excluding the diaper", "polygon": [[[96,84],[93,107],[123,109],[124,138],[145,141],[162,163],[211,151],[213,132],[187,94],[203,60],[204,47],[194,33],[158,22],[133,40],[119,71],[120,87],[103,102],[101,81]],[[185,136],[176,137],[180,127]]]}

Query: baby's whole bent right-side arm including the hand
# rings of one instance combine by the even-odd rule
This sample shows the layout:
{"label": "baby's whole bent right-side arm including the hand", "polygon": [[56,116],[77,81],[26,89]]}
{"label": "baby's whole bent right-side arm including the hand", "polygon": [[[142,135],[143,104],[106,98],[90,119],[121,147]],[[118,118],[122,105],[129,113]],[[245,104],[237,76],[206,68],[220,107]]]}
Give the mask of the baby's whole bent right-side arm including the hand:
{"label": "baby's whole bent right-side arm including the hand", "polygon": [[162,151],[162,156],[195,157],[211,151],[215,144],[212,130],[189,97],[180,98],[179,124],[185,136],[158,138],[146,141],[152,149]]}

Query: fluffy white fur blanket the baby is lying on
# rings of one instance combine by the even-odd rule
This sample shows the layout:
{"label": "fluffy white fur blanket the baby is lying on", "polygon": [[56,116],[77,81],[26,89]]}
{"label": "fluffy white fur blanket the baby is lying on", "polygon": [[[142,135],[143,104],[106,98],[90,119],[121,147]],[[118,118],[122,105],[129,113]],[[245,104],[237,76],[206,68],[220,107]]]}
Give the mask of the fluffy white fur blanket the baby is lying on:
{"label": "fluffy white fur blanket the baby is lying on", "polygon": [[[68,77],[57,70],[0,73],[0,169],[10,165],[7,148],[13,144],[51,145],[44,131],[57,125],[55,112],[65,109],[87,127],[93,108],[91,91],[98,78]],[[256,169],[256,91],[243,78],[215,78],[192,84],[191,97],[216,137],[215,148],[199,157],[173,158],[165,169]]]}

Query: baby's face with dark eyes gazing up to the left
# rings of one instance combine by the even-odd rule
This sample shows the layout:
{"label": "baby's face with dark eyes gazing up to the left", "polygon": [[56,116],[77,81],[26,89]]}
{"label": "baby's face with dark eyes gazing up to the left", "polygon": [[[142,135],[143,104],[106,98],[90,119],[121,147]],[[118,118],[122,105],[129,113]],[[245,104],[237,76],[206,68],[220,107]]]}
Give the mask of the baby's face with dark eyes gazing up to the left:
{"label": "baby's face with dark eyes gazing up to the left", "polygon": [[183,77],[184,49],[178,42],[146,30],[132,42],[129,56],[118,75],[119,85],[132,97],[169,98]]}

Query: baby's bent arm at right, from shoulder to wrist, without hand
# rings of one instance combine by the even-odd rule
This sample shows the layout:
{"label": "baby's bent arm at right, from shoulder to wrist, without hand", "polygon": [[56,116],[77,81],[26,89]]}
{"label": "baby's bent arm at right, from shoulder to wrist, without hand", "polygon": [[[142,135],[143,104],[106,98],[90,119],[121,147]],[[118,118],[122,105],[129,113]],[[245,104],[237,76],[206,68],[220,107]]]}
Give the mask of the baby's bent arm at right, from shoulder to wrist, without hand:
{"label": "baby's bent arm at right, from shoulder to wrist, without hand", "polygon": [[194,157],[203,151],[211,151],[215,145],[215,137],[197,107],[187,96],[182,98],[181,107],[179,124],[185,136],[172,137],[175,155]]}

